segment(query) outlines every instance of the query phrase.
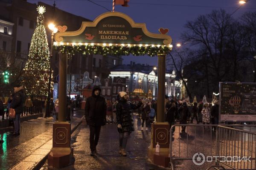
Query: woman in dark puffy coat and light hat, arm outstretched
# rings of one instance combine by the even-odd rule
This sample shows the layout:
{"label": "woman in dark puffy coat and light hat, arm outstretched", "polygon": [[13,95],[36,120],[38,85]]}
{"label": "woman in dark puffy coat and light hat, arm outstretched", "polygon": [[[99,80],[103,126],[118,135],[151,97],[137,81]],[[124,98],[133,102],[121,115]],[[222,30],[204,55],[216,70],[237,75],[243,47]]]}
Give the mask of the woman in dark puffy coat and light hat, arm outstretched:
{"label": "woman in dark puffy coat and light hat, arm outstretched", "polygon": [[132,110],[140,108],[142,103],[137,105],[128,101],[126,92],[121,91],[117,96],[118,103],[116,104],[116,121],[119,132],[119,153],[126,156],[125,147],[128,137],[134,131],[134,124],[132,118]]}

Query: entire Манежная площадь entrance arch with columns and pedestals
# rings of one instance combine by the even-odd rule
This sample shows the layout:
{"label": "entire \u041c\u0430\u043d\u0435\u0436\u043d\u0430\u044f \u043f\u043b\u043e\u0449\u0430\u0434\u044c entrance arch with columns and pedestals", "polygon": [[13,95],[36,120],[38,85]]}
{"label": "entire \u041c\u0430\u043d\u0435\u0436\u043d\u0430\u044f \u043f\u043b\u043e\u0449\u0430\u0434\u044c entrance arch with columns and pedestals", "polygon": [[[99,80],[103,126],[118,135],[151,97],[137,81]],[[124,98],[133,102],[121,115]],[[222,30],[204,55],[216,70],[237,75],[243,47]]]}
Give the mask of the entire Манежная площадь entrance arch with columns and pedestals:
{"label": "entire \u041c\u0430\u043d\u0435\u0436\u043d\u0430\u044f \u043f\u043b\u043e\u0449\u0430\u0434\u044c entrance arch with columns and pedestals", "polygon": [[[66,31],[67,26],[57,28],[59,32],[55,34],[54,45],[55,50],[59,51],[59,122],[53,125],[53,148],[48,156],[48,165],[53,166],[55,157],[71,155],[71,126],[66,122],[66,83],[67,58],[73,54],[158,56],[157,123],[151,129],[151,149],[154,150],[156,143],[159,143],[161,149],[169,151],[170,128],[168,123],[163,123],[166,54],[172,49],[172,38],[167,35],[169,30],[160,28],[160,34],[153,34],[145,24],[134,23],[129,16],[120,12],[108,12],[93,22],[83,22],[77,31]],[[64,134],[68,140],[59,139],[59,134]],[[163,135],[159,138],[159,134],[163,134],[164,138]],[[58,147],[62,147],[61,152]],[[56,160],[61,161],[59,158]]]}

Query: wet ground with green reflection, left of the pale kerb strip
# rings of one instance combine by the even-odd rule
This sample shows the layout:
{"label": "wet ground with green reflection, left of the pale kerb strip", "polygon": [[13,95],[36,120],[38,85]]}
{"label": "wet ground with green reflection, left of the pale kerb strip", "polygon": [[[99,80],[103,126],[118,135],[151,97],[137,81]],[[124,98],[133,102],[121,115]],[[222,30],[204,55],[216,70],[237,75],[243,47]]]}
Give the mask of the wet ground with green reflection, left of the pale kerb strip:
{"label": "wet ground with green reflection, left of the pale kerb strip", "polygon": [[[74,113],[74,121],[83,116],[83,111]],[[52,136],[52,125],[55,122],[55,115],[52,118],[32,119],[20,124],[20,136],[12,136],[13,128],[1,128],[0,138],[3,143],[0,144],[0,170],[7,170],[25,159],[32,151],[46,142]],[[37,137],[46,133],[45,136]]]}

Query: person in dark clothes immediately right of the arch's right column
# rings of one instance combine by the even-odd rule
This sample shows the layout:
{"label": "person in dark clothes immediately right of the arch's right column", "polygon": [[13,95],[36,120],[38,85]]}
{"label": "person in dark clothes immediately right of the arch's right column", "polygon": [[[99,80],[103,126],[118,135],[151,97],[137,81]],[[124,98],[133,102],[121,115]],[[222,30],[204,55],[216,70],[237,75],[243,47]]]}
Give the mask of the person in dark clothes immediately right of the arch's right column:
{"label": "person in dark clothes immediately right of the arch's right column", "polygon": [[[170,102],[166,103],[166,122],[169,123],[170,128],[172,127],[172,125],[175,124],[175,111],[176,111],[176,105],[173,99],[171,99]],[[172,129],[172,135],[175,131],[175,127]]]}

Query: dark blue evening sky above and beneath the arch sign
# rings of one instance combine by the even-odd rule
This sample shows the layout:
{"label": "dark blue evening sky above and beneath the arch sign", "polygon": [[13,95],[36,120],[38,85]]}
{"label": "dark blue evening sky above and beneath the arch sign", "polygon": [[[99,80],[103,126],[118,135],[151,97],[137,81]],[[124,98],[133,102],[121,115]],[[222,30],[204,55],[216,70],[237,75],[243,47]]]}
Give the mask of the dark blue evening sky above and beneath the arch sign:
{"label": "dark blue evening sky above and beneath the arch sign", "polygon": [[[112,10],[112,0],[91,0],[109,10]],[[28,0],[37,3],[38,0]],[[53,4],[54,0],[41,0],[41,2]],[[155,4],[155,5],[154,5]],[[188,20],[195,20],[200,14],[209,14],[214,9],[225,9],[233,13],[239,7],[239,0],[130,0],[130,7],[116,6],[115,11],[128,14],[136,23],[145,23],[148,30],[158,33],[160,27],[169,28],[172,44],[180,42],[180,34],[184,31],[184,25]],[[107,12],[106,9],[97,6],[88,0],[56,0],[56,7],[70,13],[94,20],[97,16]],[[256,10],[256,0],[249,0],[233,17],[239,18],[246,11]],[[130,61],[157,65],[157,57],[123,57],[123,63]]]}

